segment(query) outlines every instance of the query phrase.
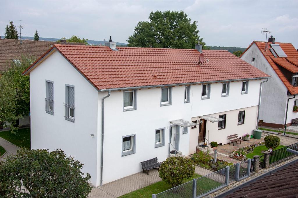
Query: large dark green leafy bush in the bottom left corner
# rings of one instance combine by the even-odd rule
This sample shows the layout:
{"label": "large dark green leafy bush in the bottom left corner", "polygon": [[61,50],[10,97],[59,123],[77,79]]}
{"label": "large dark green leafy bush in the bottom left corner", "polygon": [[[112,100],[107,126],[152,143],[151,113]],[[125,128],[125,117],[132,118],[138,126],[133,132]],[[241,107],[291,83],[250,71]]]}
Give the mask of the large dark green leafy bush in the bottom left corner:
{"label": "large dark green leafy bush in the bottom left corner", "polygon": [[83,164],[61,150],[18,150],[0,161],[0,197],[88,197]]}

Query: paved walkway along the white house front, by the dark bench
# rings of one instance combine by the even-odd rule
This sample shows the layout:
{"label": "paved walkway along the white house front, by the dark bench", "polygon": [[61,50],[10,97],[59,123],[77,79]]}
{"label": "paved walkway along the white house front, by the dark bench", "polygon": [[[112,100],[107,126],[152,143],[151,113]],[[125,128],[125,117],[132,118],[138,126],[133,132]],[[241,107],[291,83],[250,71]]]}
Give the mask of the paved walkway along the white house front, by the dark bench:
{"label": "paved walkway along the white house front, by the dark bench", "polygon": [[[195,173],[199,175],[208,175],[212,171],[196,166]],[[161,181],[156,169],[150,170],[149,175],[139,172],[125,178],[107,183],[101,187],[93,188],[89,197],[91,198],[114,198],[129,192],[144,188],[150,184]]]}

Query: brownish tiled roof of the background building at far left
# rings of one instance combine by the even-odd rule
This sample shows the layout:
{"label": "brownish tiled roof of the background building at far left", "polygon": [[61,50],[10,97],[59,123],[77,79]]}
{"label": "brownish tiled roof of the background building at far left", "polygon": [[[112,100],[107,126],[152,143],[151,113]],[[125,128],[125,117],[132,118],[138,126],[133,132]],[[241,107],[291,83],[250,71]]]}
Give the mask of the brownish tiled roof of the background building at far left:
{"label": "brownish tiled roof of the background building at far left", "polygon": [[[35,58],[43,55],[49,48],[60,42],[52,41],[33,41],[16,39],[0,39],[0,72],[5,71],[10,66],[10,61],[20,59],[24,56],[34,56]],[[85,45],[84,43],[66,43],[69,45]]]}

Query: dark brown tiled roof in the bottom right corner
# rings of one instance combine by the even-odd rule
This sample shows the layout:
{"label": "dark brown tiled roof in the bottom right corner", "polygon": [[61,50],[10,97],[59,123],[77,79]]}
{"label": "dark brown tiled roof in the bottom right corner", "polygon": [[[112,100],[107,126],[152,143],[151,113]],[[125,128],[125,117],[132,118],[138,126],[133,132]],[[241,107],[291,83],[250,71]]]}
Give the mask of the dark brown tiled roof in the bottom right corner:
{"label": "dark brown tiled roof in the bottom right corner", "polygon": [[226,198],[298,197],[298,163],[289,165],[234,191]]}

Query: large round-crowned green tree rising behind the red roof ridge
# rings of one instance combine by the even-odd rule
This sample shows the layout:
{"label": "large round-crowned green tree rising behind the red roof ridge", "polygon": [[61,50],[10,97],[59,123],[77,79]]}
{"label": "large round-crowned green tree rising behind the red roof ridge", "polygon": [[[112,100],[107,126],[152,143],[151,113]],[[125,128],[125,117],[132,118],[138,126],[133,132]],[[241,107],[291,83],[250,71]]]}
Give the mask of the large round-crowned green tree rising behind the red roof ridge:
{"label": "large round-crowned green tree rising behind the red roof ridge", "polygon": [[197,21],[191,23],[183,11],[151,12],[149,21],[140,21],[127,40],[129,47],[160,47],[194,49],[198,41]]}

